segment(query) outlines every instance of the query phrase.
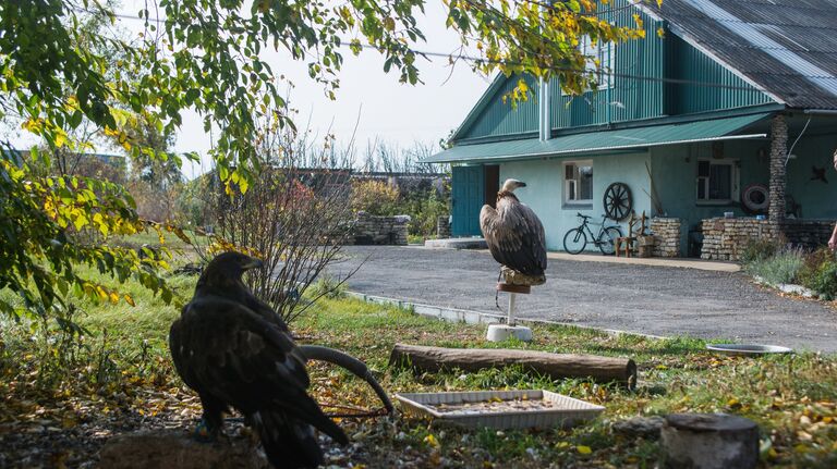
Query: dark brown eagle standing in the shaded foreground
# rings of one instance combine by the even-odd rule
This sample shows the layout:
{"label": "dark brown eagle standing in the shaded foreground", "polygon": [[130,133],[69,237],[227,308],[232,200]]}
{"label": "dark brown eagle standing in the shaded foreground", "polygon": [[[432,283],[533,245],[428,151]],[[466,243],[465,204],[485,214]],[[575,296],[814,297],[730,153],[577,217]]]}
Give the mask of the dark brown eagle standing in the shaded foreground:
{"label": "dark brown eagle standing in the shaded foreground", "polygon": [[201,397],[211,437],[232,407],[255,427],[271,465],[315,467],[323,453],[313,428],[341,444],[348,439],[306,394],[308,374],[287,328],[254,311],[263,307],[242,296],[242,273],[258,266],[233,252],[209,262],[192,301],[171,325],[171,356],[183,382]]}

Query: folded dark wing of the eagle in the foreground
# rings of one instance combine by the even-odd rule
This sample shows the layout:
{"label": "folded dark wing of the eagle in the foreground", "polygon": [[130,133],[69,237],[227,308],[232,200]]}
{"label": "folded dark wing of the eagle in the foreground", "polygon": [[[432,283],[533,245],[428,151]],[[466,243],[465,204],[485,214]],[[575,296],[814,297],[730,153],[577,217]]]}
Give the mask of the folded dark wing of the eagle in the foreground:
{"label": "folded dark wing of the eagle in the foreground", "polygon": [[178,372],[198,393],[244,412],[281,410],[347,441],[306,394],[308,374],[291,337],[245,306],[194,298],[172,324],[169,342]]}

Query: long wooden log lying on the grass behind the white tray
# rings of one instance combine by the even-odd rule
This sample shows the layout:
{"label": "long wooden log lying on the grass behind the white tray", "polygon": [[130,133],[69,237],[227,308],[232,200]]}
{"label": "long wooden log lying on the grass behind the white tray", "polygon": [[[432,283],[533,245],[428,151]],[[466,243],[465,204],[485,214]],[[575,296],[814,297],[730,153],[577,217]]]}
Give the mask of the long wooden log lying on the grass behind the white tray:
{"label": "long wooden log lying on the grass behind the white tray", "polygon": [[486,368],[522,365],[553,379],[592,378],[598,382],[636,385],[636,363],[629,358],[597,355],[549,354],[508,348],[441,348],[396,344],[389,356],[390,366],[409,366],[418,371],[444,369],[478,371]]}

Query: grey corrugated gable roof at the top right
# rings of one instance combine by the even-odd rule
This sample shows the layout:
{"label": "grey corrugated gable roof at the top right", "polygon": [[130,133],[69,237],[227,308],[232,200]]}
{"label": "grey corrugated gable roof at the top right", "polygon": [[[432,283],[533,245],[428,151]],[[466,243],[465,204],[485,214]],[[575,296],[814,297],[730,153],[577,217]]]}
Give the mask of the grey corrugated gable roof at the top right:
{"label": "grey corrugated gable roof at the top right", "polygon": [[837,109],[837,0],[664,0],[644,9],[779,102]]}

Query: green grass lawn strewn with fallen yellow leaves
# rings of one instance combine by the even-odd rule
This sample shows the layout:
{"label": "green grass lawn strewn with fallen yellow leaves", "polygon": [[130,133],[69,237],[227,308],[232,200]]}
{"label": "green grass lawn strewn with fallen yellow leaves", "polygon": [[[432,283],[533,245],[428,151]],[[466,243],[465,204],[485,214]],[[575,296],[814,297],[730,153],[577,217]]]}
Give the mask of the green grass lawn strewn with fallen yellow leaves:
{"label": "green grass lawn strewn with fallen yellow leaves", "polygon": [[[185,299],[195,277],[173,276],[170,282]],[[0,367],[7,379],[0,381],[0,395],[12,403],[7,410],[11,409],[14,419],[25,420],[33,414],[32,407],[21,403],[35,402],[43,408],[47,398],[65,403],[94,396],[93,404],[85,404],[88,412],[117,406],[125,411],[147,411],[150,400],[156,403],[154,411],[163,415],[180,412],[186,406],[182,396],[191,392],[177,378],[166,345],[177,307],[163,305],[136,285],[121,288],[134,296],[135,308],[124,304],[80,305],[84,312],[78,322],[93,334],[83,338],[83,347],[68,346],[62,351],[56,341],[33,338],[37,334],[25,323],[3,324]],[[601,418],[573,430],[463,430],[404,416],[342,420],[347,432],[367,448],[368,467],[392,466],[397,462],[392,458],[421,460],[418,466],[426,467],[653,467],[658,457],[657,442],[618,434],[612,423],[639,415],[681,411],[725,411],[755,420],[762,428],[765,466],[837,464],[837,360],[833,356],[726,357],[707,353],[703,341],[688,337],[655,340],[543,324],[533,326],[536,340],[532,344],[494,344],[484,340],[484,325],[441,322],[348,298],[323,299],[293,329],[303,336],[302,342],[337,347],[366,361],[390,394],[544,388],[606,407]],[[551,380],[514,367],[415,374],[388,365],[397,342],[630,357],[639,365],[640,383],[635,391],[629,391],[584,379]],[[47,366],[68,350],[76,355],[62,359],[61,367]],[[320,403],[377,406],[374,394],[360,380],[318,362],[310,368],[310,392]],[[45,370],[51,379],[24,379]],[[149,397],[160,395],[180,397]],[[57,408],[66,408],[61,406]],[[189,406],[191,412],[196,411],[195,403]],[[4,417],[7,410],[0,412],[0,421],[9,418]]]}

